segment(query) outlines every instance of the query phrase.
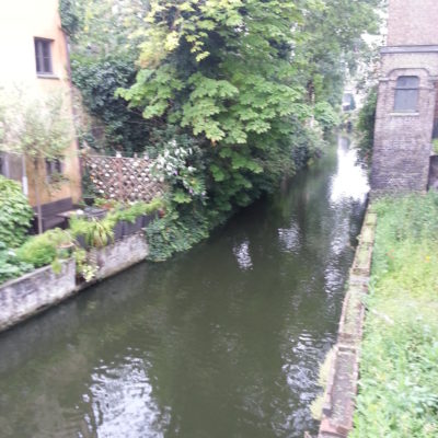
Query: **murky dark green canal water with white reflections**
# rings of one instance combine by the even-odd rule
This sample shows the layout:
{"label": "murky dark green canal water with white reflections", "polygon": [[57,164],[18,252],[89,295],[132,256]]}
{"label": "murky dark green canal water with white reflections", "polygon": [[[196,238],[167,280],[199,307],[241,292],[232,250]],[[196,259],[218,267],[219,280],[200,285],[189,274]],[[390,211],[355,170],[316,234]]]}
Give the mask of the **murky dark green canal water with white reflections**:
{"label": "murky dark green canal water with white reflections", "polygon": [[367,191],[339,139],[193,251],[0,335],[0,436],[315,433]]}

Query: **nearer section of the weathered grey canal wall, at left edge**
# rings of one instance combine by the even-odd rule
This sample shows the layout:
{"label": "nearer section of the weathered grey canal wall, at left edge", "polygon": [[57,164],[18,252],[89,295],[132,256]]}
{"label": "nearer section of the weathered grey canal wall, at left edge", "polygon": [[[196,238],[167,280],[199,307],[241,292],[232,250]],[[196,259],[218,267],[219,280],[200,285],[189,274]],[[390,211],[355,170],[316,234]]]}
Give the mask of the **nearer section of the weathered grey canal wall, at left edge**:
{"label": "nearer section of the weathered grey canal wall, at left edge", "polygon": [[0,286],[0,331],[66,299],[76,290],[73,260],[55,274],[45,266]]}

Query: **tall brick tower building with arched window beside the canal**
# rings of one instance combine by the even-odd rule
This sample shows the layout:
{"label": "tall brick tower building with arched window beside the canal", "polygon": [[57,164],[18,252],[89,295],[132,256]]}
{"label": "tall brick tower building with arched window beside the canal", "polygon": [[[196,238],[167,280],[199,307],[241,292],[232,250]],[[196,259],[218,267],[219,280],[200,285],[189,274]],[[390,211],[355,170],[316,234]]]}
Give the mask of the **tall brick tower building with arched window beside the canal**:
{"label": "tall brick tower building with arched window beside the canal", "polygon": [[437,23],[437,0],[389,0],[371,171],[373,196],[427,189],[431,140],[438,136]]}

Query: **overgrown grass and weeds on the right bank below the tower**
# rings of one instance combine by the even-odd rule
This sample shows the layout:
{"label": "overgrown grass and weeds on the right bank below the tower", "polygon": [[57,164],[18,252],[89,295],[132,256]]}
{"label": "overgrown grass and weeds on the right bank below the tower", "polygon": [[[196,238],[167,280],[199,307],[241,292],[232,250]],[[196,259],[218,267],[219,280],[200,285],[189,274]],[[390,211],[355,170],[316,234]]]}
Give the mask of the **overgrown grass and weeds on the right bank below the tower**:
{"label": "overgrown grass and weeds on the right bank below the tower", "polygon": [[353,438],[438,437],[438,194],[378,214]]}

